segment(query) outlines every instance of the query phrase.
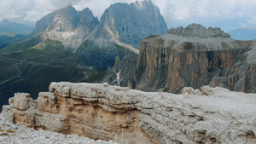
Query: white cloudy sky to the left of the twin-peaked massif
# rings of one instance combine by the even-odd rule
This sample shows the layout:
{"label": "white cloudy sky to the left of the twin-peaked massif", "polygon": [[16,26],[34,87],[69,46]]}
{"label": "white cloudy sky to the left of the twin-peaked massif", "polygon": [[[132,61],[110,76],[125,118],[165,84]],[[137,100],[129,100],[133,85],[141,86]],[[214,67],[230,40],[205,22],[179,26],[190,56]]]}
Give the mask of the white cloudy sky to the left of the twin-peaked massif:
{"label": "white cloudy sky to the left of the twin-peaked massif", "polygon": [[[56,9],[82,0],[7,0],[0,1],[0,19],[37,21]],[[85,2],[85,1],[84,1]]]}

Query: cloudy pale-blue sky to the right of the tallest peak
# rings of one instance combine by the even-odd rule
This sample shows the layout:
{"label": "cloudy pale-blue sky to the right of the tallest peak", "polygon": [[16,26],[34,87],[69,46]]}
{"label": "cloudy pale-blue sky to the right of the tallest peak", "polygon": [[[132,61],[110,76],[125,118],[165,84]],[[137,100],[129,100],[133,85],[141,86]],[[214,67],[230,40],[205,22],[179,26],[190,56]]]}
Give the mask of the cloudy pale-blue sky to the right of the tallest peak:
{"label": "cloudy pale-blue sky to the right of the tallest peak", "polygon": [[[255,26],[255,0],[153,0],[160,7],[168,26],[200,23],[229,31],[235,26]],[[162,1],[161,1],[162,2]],[[247,17],[247,20],[245,20]]]}

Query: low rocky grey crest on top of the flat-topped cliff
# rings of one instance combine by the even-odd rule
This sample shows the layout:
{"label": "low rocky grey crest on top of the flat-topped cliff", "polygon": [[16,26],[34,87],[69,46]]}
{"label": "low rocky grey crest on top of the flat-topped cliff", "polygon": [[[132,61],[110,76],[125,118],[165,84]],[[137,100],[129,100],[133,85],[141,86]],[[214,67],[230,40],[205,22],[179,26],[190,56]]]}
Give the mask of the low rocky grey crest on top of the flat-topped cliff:
{"label": "low rocky grey crest on top of the flat-topped cliff", "polygon": [[183,26],[171,28],[167,33],[182,36],[182,37],[230,37],[230,34],[225,33],[219,27],[204,27],[200,24],[191,24],[185,28]]}

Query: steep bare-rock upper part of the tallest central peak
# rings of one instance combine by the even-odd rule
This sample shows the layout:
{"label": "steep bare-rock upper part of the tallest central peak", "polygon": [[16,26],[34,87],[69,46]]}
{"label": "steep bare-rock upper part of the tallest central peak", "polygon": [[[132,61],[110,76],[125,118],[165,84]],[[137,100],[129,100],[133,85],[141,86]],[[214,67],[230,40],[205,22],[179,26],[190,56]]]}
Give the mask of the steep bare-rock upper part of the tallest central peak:
{"label": "steep bare-rock upper part of the tallest central peak", "polygon": [[102,14],[96,37],[129,43],[139,49],[141,39],[167,32],[160,10],[150,0],[114,3]]}

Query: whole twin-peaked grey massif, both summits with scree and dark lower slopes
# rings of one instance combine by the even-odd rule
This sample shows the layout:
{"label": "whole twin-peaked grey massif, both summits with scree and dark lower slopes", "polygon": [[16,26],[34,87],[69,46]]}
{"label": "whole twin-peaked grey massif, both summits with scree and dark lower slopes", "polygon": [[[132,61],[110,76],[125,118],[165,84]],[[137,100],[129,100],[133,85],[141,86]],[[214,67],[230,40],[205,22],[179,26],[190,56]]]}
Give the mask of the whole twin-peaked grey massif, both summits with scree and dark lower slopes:
{"label": "whole twin-peaked grey massif, both summits with scree and dark lower slopes", "polygon": [[100,21],[90,9],[76,11],[72,5],[56,10],[38,20],[32,35],[41,32],[61,41],[66,49],[83,57],[99,69],[113,66],[115,56],[122,59],[125,49],[138,54],[141,39],[167,31],[160,10],[151,1],[114,3]]}

